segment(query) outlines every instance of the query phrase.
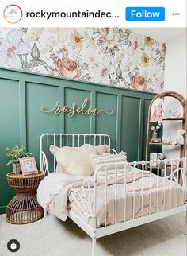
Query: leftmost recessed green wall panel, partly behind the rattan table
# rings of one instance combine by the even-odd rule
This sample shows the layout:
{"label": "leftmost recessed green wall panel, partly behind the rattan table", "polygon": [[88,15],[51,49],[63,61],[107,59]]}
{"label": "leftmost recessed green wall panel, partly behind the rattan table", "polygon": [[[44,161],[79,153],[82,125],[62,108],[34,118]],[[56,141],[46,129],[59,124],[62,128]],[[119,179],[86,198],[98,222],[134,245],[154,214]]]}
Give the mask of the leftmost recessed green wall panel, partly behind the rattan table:
{"label": "leftmost recessed green wall panel, partly behind the rattan table", "polygon": [[[4,151],[6,146],[20,144],[20,103],[19,82],[0,78],[0,207],[6,205],[13,192],[6,184],[6,165]],[[5,209],[0,208],[1,211]]]}

